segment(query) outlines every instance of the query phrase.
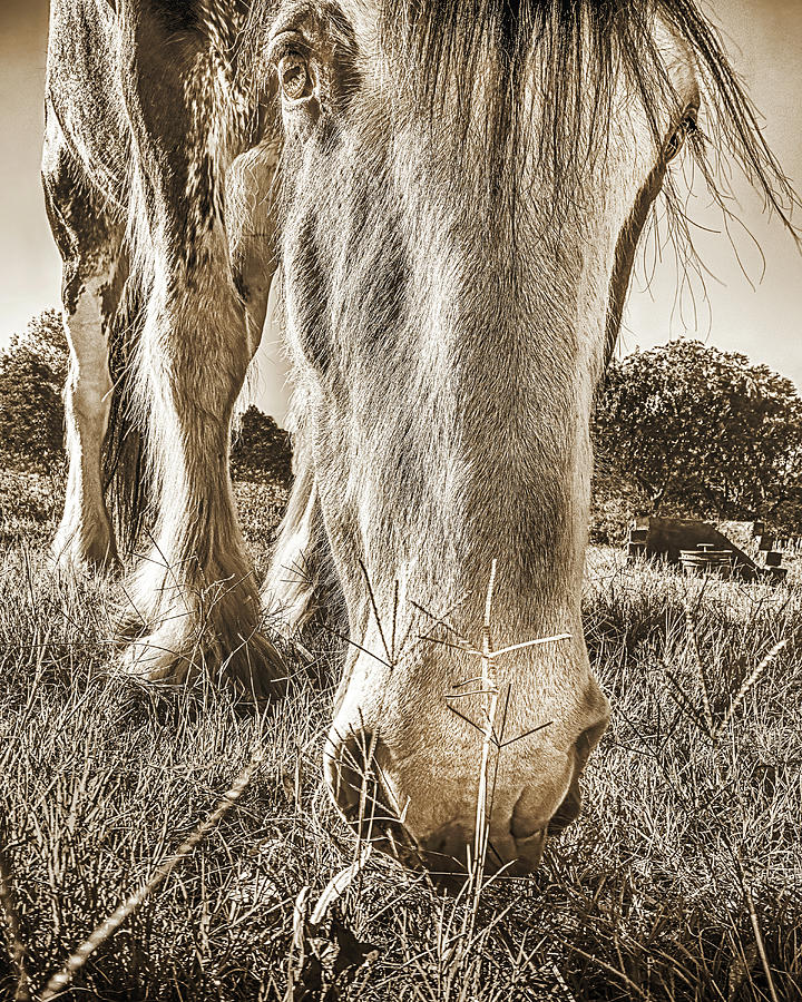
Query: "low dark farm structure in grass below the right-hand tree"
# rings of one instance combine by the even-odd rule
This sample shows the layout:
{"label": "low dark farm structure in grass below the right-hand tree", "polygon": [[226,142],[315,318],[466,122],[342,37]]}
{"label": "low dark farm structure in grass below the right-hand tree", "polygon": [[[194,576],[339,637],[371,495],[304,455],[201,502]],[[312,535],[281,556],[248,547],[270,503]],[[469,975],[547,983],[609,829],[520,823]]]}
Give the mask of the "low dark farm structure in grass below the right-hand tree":
{"label": "low dark farm structure in grass below the right-hand tree", "polygon": [[627,557],[658,557],[687,571],[718,571],[743,581],[783,581],[782,553],[763,522],[704,522],[698,519],[652,518],[633,523]]}

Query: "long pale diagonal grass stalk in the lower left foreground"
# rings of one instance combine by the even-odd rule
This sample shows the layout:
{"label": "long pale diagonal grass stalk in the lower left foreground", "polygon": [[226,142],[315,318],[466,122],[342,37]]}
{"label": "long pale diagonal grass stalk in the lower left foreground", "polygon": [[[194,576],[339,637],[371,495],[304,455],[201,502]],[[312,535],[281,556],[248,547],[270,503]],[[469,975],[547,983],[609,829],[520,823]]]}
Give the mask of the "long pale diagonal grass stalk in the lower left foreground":
{"label": "long pale diagonal grass stalk in the lower left foreground", "polygon": [[123,925],[123,923],[141,906],[159,884],[169,876],[175,867],[185,859],[198,843],[219,823],[223,816],[234,806],[234,804],[236,804],[243,793],[247,789],[262,758],[262,753],[256,752],[247,766],[245,766],[234,780],[231,788],[223,794],[217,807],[209,814],[206,821],[202,822],[192,835],[178,846],[175,853],[157,867],[153,876],[146,881],[139,890],[127,897],[108,916],[108,918],[98,925],[92,934],[81,943],[68,959],[63,967],[48,981],[47,986],[41,994],[41,1002],[49,1002],[50,999],[55,999],[69,985],[76,972],[80,971],[98,946],[113,935],[120,925]]}

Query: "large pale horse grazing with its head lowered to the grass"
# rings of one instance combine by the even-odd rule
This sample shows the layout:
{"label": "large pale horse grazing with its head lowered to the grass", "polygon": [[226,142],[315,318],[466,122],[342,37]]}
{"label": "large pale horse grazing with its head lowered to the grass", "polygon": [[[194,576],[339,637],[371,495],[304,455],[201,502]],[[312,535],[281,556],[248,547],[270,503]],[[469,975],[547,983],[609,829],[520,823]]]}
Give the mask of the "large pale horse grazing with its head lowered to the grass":
{"label": "large pale horse grazing with its head lowered to the grass", "polygon": [[[675,164],[725,205],[720,153],[791,225],[715,29],[693,0],[55,0],[46,109],[57,558],[114,564],[107,481],[135,512],[147,470],[127,665],[255,698],[286,675],[263,609],[292,635],[334,582],[342,813],[532,870],[609,720],[588,428],[638,242],[661,191],[682,236]],[[294,485],[260,593],[228,450],[273,282]]]}

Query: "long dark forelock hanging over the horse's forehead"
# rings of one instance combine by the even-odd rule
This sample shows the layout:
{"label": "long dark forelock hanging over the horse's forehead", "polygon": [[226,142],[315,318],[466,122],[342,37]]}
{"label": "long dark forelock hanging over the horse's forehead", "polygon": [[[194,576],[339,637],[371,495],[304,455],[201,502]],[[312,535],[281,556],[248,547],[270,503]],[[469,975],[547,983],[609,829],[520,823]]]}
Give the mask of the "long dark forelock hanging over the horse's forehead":
{"label": "long dark forelock hanging over the horse's forehead", "polygon": [[[489,88],[492,100],[481,117],[490,155],[514,177],[516,156],[536,148],[567,202],[587,160],[610,139],[622,78],[657,144],[665,139],[666,112],[677,120],[682,115],[684,95],[655,31],[662,23],[700,78],[705,127],[691,146],[712,194],[724,207],[726,183],[715,169],[724,150],[790,226],[796,195],[762,137],[716,28],[693,0],[380,0],[379,20],[382,47],[405,66],[432,119],[456,91],[450,110],[467,131],[477,119],[473,101]],[[536,120],[528,101],[532,75]],[[671,178],[666,194],[669,206],[677,205]]]}

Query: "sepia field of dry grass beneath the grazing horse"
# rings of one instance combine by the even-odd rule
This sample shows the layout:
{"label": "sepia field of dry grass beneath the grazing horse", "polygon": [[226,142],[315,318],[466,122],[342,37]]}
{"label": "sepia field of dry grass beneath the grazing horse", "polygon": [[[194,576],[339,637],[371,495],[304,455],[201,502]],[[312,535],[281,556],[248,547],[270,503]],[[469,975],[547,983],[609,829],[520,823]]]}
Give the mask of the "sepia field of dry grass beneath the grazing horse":
{"label": "sepia field of dry grass beneath the grazing horse", "polygon": [[[295,999],[802,1000],[796,572],[775,589],[703,587],[591,550],[586,632],[614,709],[579,822],[532,878],[497,877],[478,903],[374,853],[329,921],[295,921],[293,945],[299,894],[314,905],[356,853],[321,785],[330,647],[262,715],[225,692],[138,687],[114,671],[121,586],[65,579],[47,557],[58,484],[3,474],[0,487],[8,998],[20,970],[22,993],[41,996],[258,748],[237,802],[62,998],[283,999],[302,947]],[[238,491],[263,568],[282,499]],[[343,969],[339,995],[314,989],[315,951]]]}

